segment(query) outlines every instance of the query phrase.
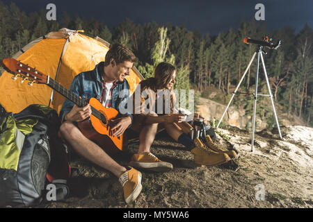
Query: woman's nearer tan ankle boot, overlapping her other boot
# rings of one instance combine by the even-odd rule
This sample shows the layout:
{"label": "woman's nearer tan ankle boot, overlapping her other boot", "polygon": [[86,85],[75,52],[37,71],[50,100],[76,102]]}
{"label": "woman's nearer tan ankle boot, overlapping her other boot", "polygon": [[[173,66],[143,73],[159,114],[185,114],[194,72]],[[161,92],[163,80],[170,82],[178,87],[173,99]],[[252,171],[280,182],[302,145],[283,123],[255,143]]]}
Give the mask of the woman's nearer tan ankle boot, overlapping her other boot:
{"label": "woman's nearer tan ankle boot, overlapping her other boot", "polygon": [[191,153],[193,153],[195,164],[197,165],[215,166],[230,160],[226,153],[212,151],[209,147],[202,144],[198,137],[193,142],[195,143],[195,148],[191,150]]}

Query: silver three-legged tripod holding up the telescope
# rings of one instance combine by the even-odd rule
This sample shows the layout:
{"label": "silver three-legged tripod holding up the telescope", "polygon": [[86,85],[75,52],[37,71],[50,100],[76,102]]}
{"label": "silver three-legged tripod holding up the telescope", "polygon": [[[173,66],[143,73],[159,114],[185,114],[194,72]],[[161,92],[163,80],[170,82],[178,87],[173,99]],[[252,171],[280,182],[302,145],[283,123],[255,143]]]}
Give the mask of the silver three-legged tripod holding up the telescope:
{"label": "silver three-legged tripod holding up the telescope", "polygon": [[[254,96],[254,99],[255,99],[255,105],[254,105],[254,108],[253,108],[253,126],[252,126],[252,141],[251,141],[251,152],[253,151],[253,144],[255,142],[255,114],[256,114],[256,111],[257,111],[257,96],[270,96],[271,97],[271,102],[272,102],[272,106],[273,106],[273,112],[274,112],[274,115],[275,115],[275,120],[276,120],[276,124],[278,126],[278,133],[280,134],[280,139],[282,139],[282,133],[280,133],[280,125],[278,123],[278,118],[277,118],[277,114],[276,114],[276,110],[275,110],[275,105],[274,105],[274,101],[273,101],[273,95],[271,93],[271,87],[270,87],[270,84],[268,82],[268,76],[267,76],[267,72],[266,72],[266,68],[265,68],[265,64],[264,64],[264,59],[263,59],[263,56],[262,56],[262,53],[265,53],[263,51],[263,46],[257,46],[257,49],[255,51],[255,53],[253,54],[249,64],[248,64],[248,67],[246,68],[243,76],[241,76],[241,79],[239,80],[239,83],[238,85],[236,86],[236,89],[234,90],[234,92],[232,93],[232,98],[230,99],[230,102],[228,103],[227,105],[227,108],[225,109],[224,113],[223,113],[223,116],[222,118],[220,118],[220,121],[218,122],[218,125],[216,128],[218,128],[218,126],[220,126],[220,123],[222,121],[222,119],[224,118],[226,112],[227,112],[227,109],[230,107],[230,103],[232,103],[232,99],[234,99],[234,96],[237,92],[237,90],[239,89],[240,85],[241,85],[241,82],[243,81],[243,78],[245,78],[247,72],[248,72],[248,69],[250,68],[251,64],[252,64],[252,61],[255,59],[255,56],[257,55],[257,76],[255,78],[255,94],[253,94]],[[258,84],[258,81],[259,81],[259,60],[261,58],[261,61],[262,61],[262,67],[263,67],[263,71],[264,71],[264,75],[265,75],[265,78],[266,78],[266,83],[267,83],[267,87],[268,87],[268,93],[269,94],[257,94],[257,84]]]}

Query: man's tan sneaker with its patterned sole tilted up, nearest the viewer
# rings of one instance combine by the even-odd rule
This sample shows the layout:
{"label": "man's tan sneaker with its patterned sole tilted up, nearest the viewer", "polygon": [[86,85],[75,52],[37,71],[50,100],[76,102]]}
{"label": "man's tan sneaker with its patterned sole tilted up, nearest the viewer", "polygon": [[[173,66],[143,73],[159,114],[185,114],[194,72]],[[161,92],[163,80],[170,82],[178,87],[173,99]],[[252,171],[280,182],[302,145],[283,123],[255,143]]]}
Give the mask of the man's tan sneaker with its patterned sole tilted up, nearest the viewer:
{"label": "man's tan sneaker with its patterned sole tilted up, nearest the viewer", "polygon": [[143,185],[141,185],[141,172],[130,167],[128,171],[125,171],[118,178],[122,184],[124,190],[124,198],[127,204],[136,200],[136,198],[141,193]]}

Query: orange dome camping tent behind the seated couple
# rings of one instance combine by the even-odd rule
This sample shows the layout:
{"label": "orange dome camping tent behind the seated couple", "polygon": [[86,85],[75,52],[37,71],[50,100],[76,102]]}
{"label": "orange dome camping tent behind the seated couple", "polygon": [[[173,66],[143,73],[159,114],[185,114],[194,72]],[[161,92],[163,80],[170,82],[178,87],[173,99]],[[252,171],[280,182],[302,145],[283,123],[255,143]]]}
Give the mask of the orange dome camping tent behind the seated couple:
{"label": "orange dome camping tent behind the seated couple", "polygon": [[[99,37],[88,37],[67,28],[51,32],[27,44],[13,58],[35,67],[43,74],[54,78],[63,87],[69,89],[72,79],[82,71],[95,68],[104,61],[110,44]],[[7,112],[20,112],[28,105],[50,105],[60,112],[64,97],[45,84],[29,86],[20,78],[13,80],[12,75],[4,71],[0,76],[0,104]],[[127,76],[131,94],[143,76],[136,67]]]}

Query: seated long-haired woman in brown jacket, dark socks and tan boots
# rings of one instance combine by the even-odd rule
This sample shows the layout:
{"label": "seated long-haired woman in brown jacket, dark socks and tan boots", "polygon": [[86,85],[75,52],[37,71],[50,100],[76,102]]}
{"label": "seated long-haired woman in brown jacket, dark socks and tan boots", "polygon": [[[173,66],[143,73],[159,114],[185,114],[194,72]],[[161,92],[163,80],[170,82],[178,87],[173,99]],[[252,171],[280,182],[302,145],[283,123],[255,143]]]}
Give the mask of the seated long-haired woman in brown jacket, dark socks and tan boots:
{"label": "seated long-haired woman in brown jacket, dark socks and tan boots", "polygon": [[[161,123],[172,139],[186,146],[194,154],[196,164],[213,166],[227,162],[230,158],[236,158],[234,151],[223,151],[214,144],[209,136],[205,138],[205,145],[200,139],[195,139],[194,143],[189,137],[193,127],[184,121],[184,114],[177,114],[177,110],[175,110],[176,100],[172,90],[176,83],[175,77],[175,67],[168,62],[161,62],[154,70],[154,77],[141,81],[136,89],[137,94],[141,93],[140,103],[136,103],[136,99],[133,100],[135,122],[139,123],[135,125],[142,128],[146,124],[152,124],[156,129],[158,123]],[[163,107],[160,108],[160,105]],[[199,114],[195,114],[195,116],[199,117]],[[141,145],[139,151],[145,152]],[[150,152],[150,146],[147,152]]]}

